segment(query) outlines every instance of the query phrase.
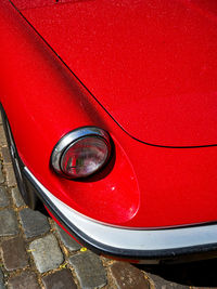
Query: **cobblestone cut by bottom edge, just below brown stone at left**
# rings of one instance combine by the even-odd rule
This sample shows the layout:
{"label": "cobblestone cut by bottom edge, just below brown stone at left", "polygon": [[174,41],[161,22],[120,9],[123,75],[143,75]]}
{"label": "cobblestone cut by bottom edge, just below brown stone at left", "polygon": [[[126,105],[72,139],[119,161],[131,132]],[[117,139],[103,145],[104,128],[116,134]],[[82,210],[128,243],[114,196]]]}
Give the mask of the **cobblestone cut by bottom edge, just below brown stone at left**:
{"label": "cobblestone cut by bottom edge, just below brown stone at left", "polygon": [[34,273],[23,272],[9,279],[9,289],[40,289],[40,286]]}

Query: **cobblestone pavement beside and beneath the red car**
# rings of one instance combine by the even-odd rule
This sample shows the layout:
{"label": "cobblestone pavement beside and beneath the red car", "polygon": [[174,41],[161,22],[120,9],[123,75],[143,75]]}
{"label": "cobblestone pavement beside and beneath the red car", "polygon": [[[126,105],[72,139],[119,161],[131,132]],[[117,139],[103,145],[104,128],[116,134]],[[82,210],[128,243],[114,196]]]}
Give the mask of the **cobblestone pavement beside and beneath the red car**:
{"label": "cobblestone pavement beside and beneath the red car", "polygon": [[[210,262],[212,268],[208,261],[137,267],[99,257],[78,245],[53,220],[25,206],[0,119],[0,289],[215,287],[217,262]],[[208,281],[200,275],[201,267]]]}

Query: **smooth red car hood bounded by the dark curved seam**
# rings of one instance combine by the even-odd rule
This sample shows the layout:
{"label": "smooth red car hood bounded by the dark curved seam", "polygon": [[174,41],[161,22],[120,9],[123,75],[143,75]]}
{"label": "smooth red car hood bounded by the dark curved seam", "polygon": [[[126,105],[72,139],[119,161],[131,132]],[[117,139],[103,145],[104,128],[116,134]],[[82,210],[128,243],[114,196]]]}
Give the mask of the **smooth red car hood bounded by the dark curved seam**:
{"label": "smooth red car hood bounded by the dark curved seam", "polygon": [[217,143],[217,1],[13,2],[131,136]]}

